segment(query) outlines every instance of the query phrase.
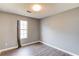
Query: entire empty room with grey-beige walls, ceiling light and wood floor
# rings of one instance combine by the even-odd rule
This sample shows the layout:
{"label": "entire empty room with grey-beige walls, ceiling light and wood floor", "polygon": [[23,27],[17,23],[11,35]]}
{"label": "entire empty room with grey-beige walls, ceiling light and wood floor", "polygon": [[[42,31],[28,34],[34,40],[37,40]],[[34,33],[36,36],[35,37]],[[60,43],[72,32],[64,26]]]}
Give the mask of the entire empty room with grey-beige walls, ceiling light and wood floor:
{"label": "entire empty room with grey-beige walls, ceiling light and wood floor", "polygon": [[0,3],[0,56],[78,56],[79,3]]}

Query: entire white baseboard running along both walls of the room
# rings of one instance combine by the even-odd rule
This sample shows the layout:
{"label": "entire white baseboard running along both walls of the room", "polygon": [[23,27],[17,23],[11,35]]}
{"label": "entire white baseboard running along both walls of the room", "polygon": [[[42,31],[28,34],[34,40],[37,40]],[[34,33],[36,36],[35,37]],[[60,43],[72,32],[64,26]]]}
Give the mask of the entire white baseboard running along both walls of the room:
{"label": "entire white baseboard running along both walls of the room", "polygon": [[[66,51],[66,50],[64,50],[64,49],[58,48],[58,47],[56,47],[56,46],[53,46],[53,45],[51,45],[51,44],[48,44],[48,43],[45,43],[45,42],[42,42],[42,41],[34,41],[34,42],[31,42],[31,43],[23,44],[22,46],[26,46],[26,45],[30,45],[30,44],[34,44],[34,43],[38,43],[38,42],[41,42],[41,43],[46,44],[46,45],[48,45],[48,46],[50,46],[50,47],[56,48],[56,49],[58,49],[58,50],[60,50],[60,51],[66,52],[66,53],[68,53],[68,54],[70,54],[70,55],[79,56],[79,55],[77,55],[77,54],[74,54],[74,53],[72,53],[72,52]],[[11,50],[11,49],[16,49],[16,48],[18,48],[18,46],[11,47],[11,48],[6,48],[6,49],[2,49],[2,50],[0,50],[0,54],[1,54],[3,51],[8,51],[8,50]]]}

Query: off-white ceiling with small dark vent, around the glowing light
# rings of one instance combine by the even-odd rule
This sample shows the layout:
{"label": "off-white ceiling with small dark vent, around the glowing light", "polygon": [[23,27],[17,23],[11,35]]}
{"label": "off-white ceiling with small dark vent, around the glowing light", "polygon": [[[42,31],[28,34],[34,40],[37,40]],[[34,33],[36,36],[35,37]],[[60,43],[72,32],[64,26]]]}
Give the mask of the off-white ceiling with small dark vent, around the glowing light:
{"label": "off-white ceiling with small dark vent, around the glowing light", "polygon": [[[40,19],[79,7],[78,3],[40,3],[42,10],[34,12],[31,9],[33,4],[34,3],[0,3],[0,11]],[[28,13],[28,10],[32,13]]]}

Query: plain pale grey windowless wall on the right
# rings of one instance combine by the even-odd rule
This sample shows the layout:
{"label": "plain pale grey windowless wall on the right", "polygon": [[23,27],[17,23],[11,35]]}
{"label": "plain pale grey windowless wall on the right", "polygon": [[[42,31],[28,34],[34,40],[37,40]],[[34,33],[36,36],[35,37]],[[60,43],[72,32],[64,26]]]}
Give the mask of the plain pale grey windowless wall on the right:
{"label": "plain pale grey windowless wall on the right", "polygon": [[42,19],[41,40],[79,54],[79,8]]}

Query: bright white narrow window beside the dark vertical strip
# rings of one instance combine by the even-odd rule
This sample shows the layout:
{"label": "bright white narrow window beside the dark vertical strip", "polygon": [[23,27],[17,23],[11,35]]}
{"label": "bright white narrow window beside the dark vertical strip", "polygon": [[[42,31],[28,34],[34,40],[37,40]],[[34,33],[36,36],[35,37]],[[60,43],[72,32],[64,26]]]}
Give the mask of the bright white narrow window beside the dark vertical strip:
{"label": "bright white narrow window beside the dark vertical strip", "polygon": [[20,39],[27,38],[27,21],[20,21]]}

